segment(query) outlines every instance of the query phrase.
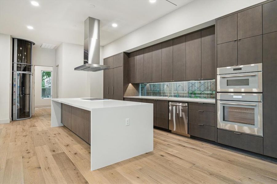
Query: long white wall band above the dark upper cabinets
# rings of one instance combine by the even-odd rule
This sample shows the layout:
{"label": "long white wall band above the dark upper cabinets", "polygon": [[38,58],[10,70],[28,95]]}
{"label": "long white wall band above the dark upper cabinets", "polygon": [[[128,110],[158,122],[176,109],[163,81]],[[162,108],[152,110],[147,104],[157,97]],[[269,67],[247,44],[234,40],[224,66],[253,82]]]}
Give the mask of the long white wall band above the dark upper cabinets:
{"label": "long white wall band above the dark upper cabinets", "polygon": [[[104,46],[104,58],[214,24],[214,19],[264,0],[195,0]],[[201,25],[203,24],[203,25]],[[201,26],[199,26],[201,25]],[[135,49],[134,49],[135,48]]]}

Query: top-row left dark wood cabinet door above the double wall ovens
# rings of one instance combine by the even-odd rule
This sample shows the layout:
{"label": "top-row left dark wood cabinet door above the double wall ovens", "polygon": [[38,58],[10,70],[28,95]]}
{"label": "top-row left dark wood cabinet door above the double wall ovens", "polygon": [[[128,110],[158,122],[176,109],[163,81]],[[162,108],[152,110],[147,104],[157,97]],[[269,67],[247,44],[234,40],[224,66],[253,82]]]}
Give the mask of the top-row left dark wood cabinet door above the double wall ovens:
{"label": "top-row left dark wood cabinet door above the double wall ovens", "polygon": [[237,40],[237,14],[221,18],[217,23],[217,44]]}

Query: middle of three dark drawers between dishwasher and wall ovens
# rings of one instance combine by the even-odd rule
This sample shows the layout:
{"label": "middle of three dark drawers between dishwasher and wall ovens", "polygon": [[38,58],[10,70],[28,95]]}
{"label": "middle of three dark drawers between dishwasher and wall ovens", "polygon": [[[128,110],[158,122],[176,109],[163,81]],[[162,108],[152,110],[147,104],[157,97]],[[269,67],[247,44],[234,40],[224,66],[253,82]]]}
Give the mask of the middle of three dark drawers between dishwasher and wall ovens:
{"label": "middle of three dark drawers between dishwasher and wall ovens", "polygon": [[189,110],[188,122],[215,126],[215,113],[202,110]]}

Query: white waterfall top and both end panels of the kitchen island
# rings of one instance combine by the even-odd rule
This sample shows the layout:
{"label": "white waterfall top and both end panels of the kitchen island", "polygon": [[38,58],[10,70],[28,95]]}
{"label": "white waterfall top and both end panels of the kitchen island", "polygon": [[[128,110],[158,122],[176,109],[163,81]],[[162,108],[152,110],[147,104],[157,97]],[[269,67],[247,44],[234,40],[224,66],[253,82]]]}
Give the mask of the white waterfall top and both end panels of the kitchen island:
{"label": "white waterfall top and both end panels of the kitchen island", "polygon": [[[90,111],[92,171],[153,151],[153,104],[82,98],[52,99],[51,127],[63,126],[61,104]],[[128,119],[129,125],[126,123]]]}

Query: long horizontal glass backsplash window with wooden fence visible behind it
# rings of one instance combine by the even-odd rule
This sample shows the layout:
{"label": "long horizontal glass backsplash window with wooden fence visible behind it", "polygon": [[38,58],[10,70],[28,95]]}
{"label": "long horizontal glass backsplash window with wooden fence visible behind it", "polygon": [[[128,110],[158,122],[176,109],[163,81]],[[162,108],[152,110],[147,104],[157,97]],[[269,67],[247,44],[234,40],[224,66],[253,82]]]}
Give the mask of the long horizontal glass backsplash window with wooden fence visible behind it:
{"label": "long horizontal glass backsplash window with wooden fence visible behind it", "polygon": [[167,87],[169,97],[173,98],[215,98],[215,80],[207,81],[185,81],[185,82],[161,82],[161,83],[141,83],[140,96],[167,97]]}

